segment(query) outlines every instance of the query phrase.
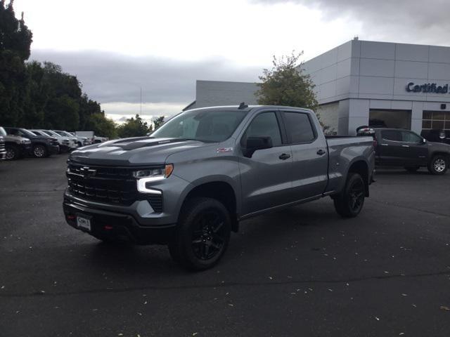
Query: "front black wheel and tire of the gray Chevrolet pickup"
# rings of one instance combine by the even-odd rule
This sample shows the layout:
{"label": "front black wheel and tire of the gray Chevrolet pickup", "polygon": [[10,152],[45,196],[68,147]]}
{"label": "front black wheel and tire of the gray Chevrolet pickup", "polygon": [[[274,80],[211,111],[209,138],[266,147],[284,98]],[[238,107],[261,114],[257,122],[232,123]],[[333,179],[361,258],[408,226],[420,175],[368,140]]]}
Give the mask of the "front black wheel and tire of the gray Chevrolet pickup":
{"label": "front black wheel and tire of the gray Chevrolet pickup", "polygon": [[230,235],[229,211],[221,202],[204,197],[191,199],[183,208],[169,252],[188,270],[206,270],[224,255]]}

